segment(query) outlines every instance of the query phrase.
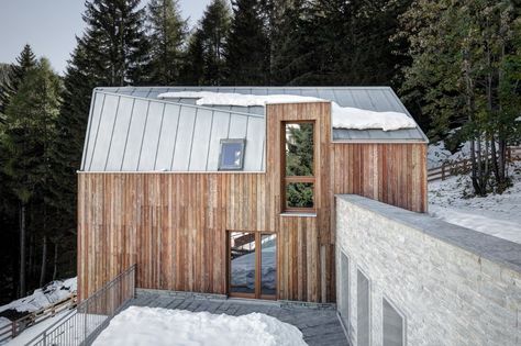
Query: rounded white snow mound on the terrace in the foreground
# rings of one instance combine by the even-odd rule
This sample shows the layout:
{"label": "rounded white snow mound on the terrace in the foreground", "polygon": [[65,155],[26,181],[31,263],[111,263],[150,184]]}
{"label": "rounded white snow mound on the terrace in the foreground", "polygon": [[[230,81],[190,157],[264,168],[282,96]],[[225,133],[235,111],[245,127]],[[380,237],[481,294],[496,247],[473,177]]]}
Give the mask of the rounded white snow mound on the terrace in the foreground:
{"label": "rounded white snow mound on the terrace in the foreground", "polygon": [[95,346],[110,345],[307,345],[293,325],[262,313],[242,316],[131,306],[101,332]]}

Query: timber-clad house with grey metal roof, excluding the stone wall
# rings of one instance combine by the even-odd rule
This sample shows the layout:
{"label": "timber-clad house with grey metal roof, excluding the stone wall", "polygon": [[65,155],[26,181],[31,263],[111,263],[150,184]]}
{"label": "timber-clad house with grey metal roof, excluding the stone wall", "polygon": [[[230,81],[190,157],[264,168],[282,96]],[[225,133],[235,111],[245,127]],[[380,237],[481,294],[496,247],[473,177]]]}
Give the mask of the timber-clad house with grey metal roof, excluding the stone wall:
{"label": "timber-clad house with grey metal roof, excluding the stone wall", "polygon": [[334,196],[425,212],[426,144],[387,87],[97,88],[79,294],[135,263],[138,288],[334,302]]}

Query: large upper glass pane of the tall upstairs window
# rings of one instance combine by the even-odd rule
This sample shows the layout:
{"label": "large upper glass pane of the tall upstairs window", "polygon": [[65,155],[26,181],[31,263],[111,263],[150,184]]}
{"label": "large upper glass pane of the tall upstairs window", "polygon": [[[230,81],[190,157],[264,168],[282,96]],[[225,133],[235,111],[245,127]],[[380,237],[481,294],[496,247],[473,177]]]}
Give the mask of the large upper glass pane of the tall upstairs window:
{"label": "large upper glass pane of the tall upstairs window", "polygon": [[313,124],[286,124],[286,176],[313,176]]}

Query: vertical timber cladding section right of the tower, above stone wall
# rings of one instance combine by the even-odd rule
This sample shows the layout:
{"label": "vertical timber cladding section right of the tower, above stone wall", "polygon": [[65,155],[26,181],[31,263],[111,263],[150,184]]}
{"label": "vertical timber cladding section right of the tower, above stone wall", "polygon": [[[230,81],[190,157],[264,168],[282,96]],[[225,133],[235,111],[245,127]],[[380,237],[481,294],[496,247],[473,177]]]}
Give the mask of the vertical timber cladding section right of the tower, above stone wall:
{"label": "vertical timber cladding section right of the tower, above stone wall", "polygon": [[426,212],[425,143],[334,143],[331,152],[334,194]]}

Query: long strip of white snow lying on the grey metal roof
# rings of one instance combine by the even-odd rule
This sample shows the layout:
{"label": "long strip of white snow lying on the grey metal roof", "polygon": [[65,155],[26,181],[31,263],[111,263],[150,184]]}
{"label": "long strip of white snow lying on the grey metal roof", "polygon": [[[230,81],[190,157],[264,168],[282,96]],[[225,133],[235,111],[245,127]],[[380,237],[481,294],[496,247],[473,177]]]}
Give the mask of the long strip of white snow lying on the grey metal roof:
{"label": "long strip of white snow lying on the grey metal roof", "polygon": [[[323,102],[324,99],[303,97],[298,94],[242,94],[211,91],[178,91],[164,92],[159,99],[198,99],[198,105],[237,105],[237,107],[265,107],[275,103],[302,103]],[[395,131],[400,129],[414,129],[417,124],[412,118],[399,112],[375,112],[351,107],[340,107],[331,102],[332,126],[334,129],[369,130],[380,129]]]}

